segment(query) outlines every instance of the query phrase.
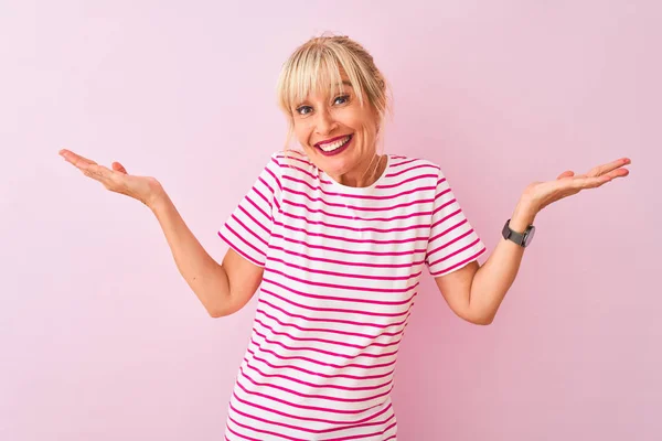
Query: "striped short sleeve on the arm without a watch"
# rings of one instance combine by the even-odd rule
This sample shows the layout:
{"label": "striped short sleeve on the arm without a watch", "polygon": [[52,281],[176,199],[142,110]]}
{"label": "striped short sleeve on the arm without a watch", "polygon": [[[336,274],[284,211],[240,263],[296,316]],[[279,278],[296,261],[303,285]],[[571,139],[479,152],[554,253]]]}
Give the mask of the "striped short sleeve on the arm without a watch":
{"label": "striped short sleeve on the arm without a watch", "polygon": [[274,153],[218,236],[247,260],[265,267],[274,216],[280,207],[280,164]]}

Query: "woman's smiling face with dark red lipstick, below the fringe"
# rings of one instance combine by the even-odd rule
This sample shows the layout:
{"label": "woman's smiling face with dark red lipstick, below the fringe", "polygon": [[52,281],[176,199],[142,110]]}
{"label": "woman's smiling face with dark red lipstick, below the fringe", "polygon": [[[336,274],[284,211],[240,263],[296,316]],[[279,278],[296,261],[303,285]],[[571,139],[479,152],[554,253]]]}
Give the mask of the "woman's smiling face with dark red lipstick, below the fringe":
{"label": "woman's smiling face with dark red lipstick, below the fringe", "polygon": [[319,169],[342,184],[356,185],[376,152],[377,120],[365,94],[361,106],[344,73],[341,78],[337,95],[324,87],[323,93],[310,94],[295,105],[295,135]]}

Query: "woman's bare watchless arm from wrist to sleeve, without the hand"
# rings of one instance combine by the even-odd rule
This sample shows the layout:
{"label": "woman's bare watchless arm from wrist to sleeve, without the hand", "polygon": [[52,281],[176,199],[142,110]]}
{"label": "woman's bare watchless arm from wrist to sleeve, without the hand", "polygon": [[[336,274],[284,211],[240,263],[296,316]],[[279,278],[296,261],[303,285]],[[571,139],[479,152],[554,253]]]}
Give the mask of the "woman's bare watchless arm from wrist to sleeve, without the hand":
{"label": "woman's bare watchless arm from wrist to sleeve, without the hand", "polygon": [[263,268],[232,248],[218,265],[200,245],[166,192],[150,203],[150,208],[161,225],[177,268],[209,314],[221,318],[242,309],[257,291]]}

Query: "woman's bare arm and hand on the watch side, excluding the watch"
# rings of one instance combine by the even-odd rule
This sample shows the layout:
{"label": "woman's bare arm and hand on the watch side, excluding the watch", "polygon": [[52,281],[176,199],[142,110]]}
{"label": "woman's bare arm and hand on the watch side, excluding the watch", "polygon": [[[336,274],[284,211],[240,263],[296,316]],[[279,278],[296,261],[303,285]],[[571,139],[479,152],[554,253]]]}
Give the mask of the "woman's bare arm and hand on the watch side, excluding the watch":
{"label": "woman's bare arm and hand on the watch side, excluding the watch", "polygon": [[[613,179],[627,176],[629,170],[623,166],[630,163],[628,158],[622,158],[598,165],[586,174],[575,175],[573,171],[566,171],[554,181],[530,184],[515,207],[510,227],[523,233],[547,205],[581,190],[595,189]],[[473,322],[489,324],[494,320],[499,305],[515,280],[523,255],[523,247],[501,238],[488,260],[474,272],[467,302],[467,315]]]}

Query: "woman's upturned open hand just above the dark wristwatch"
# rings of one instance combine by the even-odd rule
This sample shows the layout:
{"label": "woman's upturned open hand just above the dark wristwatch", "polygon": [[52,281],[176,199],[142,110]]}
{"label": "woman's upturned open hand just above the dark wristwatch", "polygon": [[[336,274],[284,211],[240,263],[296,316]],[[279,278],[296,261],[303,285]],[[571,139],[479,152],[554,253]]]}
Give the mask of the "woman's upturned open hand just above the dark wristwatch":
{"label": "woman's upturned open hand just above the dark wristwatch", "polygon": [[572,170],[565,171],[558,175],[556,181],[534,182],[530,184],[522,196],[526,205],[534,207],[535,213],[547,205],[579,193],[585,189],[598,187],[617,178],[627,176],[630,171],[624,165],[630,164],[628,158],[621,158],[613,162],[592,168],[585,174],[575,175]]}

